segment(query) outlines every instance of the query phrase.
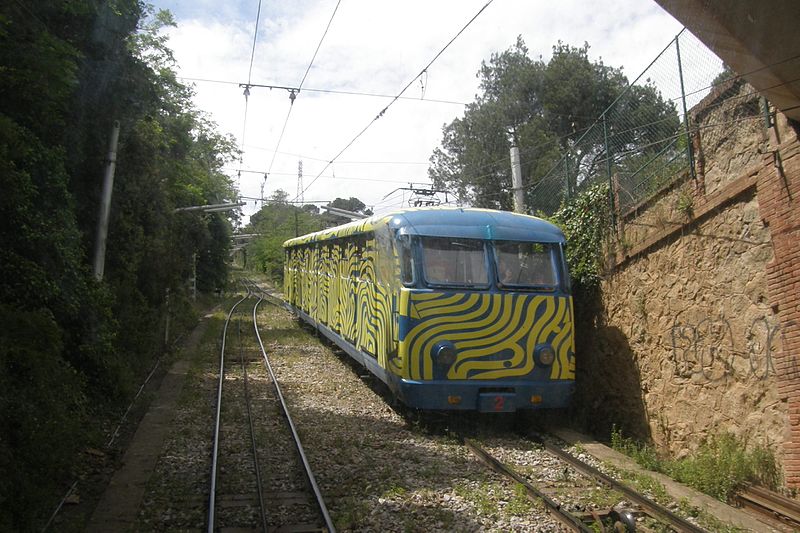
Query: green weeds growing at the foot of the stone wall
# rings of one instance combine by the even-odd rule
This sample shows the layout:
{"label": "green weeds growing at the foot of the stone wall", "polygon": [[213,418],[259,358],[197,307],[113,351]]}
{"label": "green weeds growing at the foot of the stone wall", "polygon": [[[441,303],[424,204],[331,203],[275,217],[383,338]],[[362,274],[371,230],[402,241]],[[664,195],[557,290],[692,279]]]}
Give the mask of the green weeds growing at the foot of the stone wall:
{"label": "green weeds growing at the foot of the stone wall", "polygon": [[780,474],[774,454],[762,446],[749,447],[731,434],[712,436],[697,452],[683,459],[660,458],[651,446],[623,437],[616,429],[611,445],[643,467],[663,472],[721,501],[728,501],[745,483],[776,488]]}

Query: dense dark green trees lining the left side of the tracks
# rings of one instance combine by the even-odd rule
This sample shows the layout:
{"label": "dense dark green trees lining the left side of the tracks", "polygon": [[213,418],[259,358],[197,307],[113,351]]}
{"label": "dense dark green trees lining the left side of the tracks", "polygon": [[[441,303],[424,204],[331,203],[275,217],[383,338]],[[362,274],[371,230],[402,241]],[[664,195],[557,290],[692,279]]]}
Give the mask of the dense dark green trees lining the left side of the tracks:
{"label": "dense dark green trees lining the left side of the tracks", "polygon": [[[0,6],[0,529],[41,525],[70,460],[163,349],[164,295],[225,283],[231,221],[176,213],[234,199],[236,150],[191,106],[137,0]],[[90,264],[121,124],[105,278]],[[48,497],[49,496],[49,497]]]}

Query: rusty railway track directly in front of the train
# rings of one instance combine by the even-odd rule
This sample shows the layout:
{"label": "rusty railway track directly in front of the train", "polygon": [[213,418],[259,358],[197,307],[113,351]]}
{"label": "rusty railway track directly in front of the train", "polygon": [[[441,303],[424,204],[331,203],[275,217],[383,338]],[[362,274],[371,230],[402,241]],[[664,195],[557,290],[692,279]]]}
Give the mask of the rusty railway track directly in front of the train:
{"label": "rusty railway track directly in front of the train", "polygon": [[[575,507],[575,504],[570,502],[569,499],[564,500],[563,498],[554,497],[553,493],[558,491],[553,490],[551,484],[532,481],[532,478],[535,476],[534,472],[529,472],[526,475],[501,462],[476,441],[463,438],[465,446],[467,446],[483,463],[495,472],[498,472],[522,486],[530,499],[541,502],[547,509],[547,512],[568,530],[578,532],[591,532],[597,531],[598,529],[600,531],[620,532],[650,531],[653,530],[651,529],[652,526],[642,526],[639,524],[639,522],[641,522],[639,518],[643,514],[646,514],[651,519],[657,521],[658,525],[655,530],[658,531],[664,531],[664,526],[669,527],[672,531],[681,533],[702,533],[706,531],[696,524],[676,515],[666,507],[656,503],[651,498],[639,493],[630,486],[620,483],[600,472],[592,465],[587,464],[574,455],[541,439],[537,438],[536,440],[550,455],[558,461],[563,462],[565,473],[568,472],[567,468],[572,468],[583,476],[583,479],[578,481],[575,488],[584,492],[589,490],[588,486],[585,485],[585,481],[587,479],[592,479],[594,482],[600,483],[624,496],[624,499],[633,503],[635,507],[609,506],[588,509],[582,512],[569,511],[568,508]],[[563,487],[561,487],[561,490],[563,491]]]}

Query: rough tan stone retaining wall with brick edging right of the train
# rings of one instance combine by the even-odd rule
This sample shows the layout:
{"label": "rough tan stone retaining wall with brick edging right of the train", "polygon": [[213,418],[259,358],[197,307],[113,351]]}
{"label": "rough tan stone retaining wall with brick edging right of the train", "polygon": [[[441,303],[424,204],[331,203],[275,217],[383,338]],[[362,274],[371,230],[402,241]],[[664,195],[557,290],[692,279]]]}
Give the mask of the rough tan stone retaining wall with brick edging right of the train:
{"label": "rough tan stone retaining wall with brick edging right of the train", "polygon": [[743,83],[709,95],[692,113],[695,177],[620,217],[579,385],[598,425],[677,456],[732,432],[772,447],[798,486],[800,143],[758,105]]}

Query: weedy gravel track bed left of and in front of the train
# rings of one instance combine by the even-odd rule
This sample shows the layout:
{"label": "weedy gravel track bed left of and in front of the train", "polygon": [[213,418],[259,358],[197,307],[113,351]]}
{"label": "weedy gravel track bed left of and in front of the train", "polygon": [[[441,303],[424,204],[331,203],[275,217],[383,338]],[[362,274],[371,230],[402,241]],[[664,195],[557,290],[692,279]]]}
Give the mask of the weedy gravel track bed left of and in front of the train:
{"label": "weedy gravel track bed left of and in front of the train", "polygon": [[[214,319],[214,327],[224,330],[224,349],[216,340],[207,341],[205,349],[193,354],[186,401],[179,405],[134,529],[333,530],[314,503],[317,494],[303,472],[307,462],[298,457],[292,439],[297,431],[283,414],[281,404],[287,402],[273,388],[273,381],[282,380],[281,396],[296,406],[293,415],[301,430],[315,430],[301,433],[343,530],[550,532],[616,526],[626,531],[635,520],[636,531],[701,531],[646,516],[658,513],[609,483],[578,474],[576,466],[551,455],[531,435],[515,433],[510,418],[418,412],[414,418],[390,407],[391,400],[370,390],[374,380],[365,380],[348,356],[318,344],[307,328],[277,309],[284,308],[278,297],[252,283],[248,287],[236,306],[229,306],[227,318],[218,314]],[[265,313],[267,302],[276,309]],[[259,333],[253,327],[256,319]],[[264,344],[272,368],[265,362]],[[215,406],[220,406],[218,417]],[[208,422],[215,418],[219,438],[211,496],[203,487],[212,463]],[[487,454],[483,462],[493,468],[509,465],[516,475],[509,476],[513,484],[475,460],[480,452],[453,438],[453,429],[480,435],[479,446]],[[591,461],[582,451],[573,453]],[[586,453],[593,452],[589,448]],[[648,494],[666,501],[665,494]],[[568,525],[559,526],[553,514],[564,515],[560,522]],[[725,520],[724,514],[717,516]],[[709,513],[700,513],[700,520],[709,531],[727,527]]]}

